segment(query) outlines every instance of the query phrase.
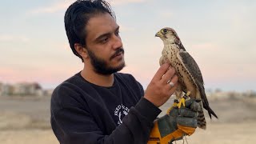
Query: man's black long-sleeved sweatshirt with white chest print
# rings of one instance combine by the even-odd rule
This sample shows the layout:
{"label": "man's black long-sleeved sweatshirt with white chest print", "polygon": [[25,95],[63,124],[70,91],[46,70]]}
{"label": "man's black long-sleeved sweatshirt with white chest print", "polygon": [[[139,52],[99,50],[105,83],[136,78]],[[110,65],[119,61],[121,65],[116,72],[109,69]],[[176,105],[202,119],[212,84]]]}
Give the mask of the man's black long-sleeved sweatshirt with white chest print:
{"label": "man's black long-sleeved sweatshirt with white chest print", "polygon": [[62,82],[51,98],[51,126],[61,144],[146,143],[161,110],[143,98],[130,74],[114,74],[114,85],[97,86],[81,74]]}

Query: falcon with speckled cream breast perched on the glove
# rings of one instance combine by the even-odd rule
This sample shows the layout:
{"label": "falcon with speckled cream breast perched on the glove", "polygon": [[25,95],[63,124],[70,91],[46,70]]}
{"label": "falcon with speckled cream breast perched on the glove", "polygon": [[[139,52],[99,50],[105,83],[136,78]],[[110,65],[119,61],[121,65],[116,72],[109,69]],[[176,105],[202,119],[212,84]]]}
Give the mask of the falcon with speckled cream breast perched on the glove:
{"label": "falcon with speckled cream breast perched on the glove", "polygon": [[[202,106],[208,111],[210,118],[211,115],[214,115],[215,118],[218,118],[218,116],[210,109],[206,98],[202,73],[197,62],[186,51],[174,29],[169,27],[163,28],[155,36],[161,38],[164,44],[162,56],[159,60],[160,66],[166,62],[170,63],[178,75],[178,87],[175,91],[176,99],[174,100],[174,106],[178,105],[178,108],[180,108],[182,105],[185,106],[186,98],[195,98],[199,102],[197,108],[198,127],[206,129],[206,119]],[[173,83],[170,83],[170,85],[172,86]],[[178,100],[180,101],[178,102]]]}

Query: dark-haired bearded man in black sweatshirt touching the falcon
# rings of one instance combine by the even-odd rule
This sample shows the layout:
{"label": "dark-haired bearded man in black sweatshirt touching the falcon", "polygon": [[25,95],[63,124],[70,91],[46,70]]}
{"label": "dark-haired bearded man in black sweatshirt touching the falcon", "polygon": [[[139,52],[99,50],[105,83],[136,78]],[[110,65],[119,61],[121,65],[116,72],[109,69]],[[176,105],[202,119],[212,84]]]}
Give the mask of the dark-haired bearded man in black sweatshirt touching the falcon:
{"label": "dark-haired bearded man in black sweatshirt touching the falcon", "polygon": [[[125,66],[119,26],[108,3],[74,2],[65,14],[66,34],[84,68],[62,82],[51,99],[51,126],[63,144],[146,143],[178,77],[158,69],[145,94]],[[174,84],[174,85],[170,85]]]}

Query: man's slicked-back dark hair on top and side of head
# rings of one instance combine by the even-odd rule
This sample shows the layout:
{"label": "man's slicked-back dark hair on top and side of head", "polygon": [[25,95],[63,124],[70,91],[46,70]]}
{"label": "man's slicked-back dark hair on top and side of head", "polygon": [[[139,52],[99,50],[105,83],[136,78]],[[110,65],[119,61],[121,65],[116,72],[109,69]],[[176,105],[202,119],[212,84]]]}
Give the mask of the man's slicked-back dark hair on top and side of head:
{"label": "man's slicked-back dark hair on top and side of head", "polygon": [[[114,11],[104,0],[77,0],[66,10],[65,29],[73,53],[82,59],[74,49],[74,43],[86,46],[86,25],[96,14],[110,14],[114,19]],[[82,59],[83,62],[83,59]]]}

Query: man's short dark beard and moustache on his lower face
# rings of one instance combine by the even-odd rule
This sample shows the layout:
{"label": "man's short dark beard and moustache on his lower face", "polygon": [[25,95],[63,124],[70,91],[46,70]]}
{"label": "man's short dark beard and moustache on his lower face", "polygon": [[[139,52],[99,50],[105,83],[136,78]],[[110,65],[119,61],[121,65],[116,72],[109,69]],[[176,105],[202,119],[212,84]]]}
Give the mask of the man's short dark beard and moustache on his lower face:
{"label": "man's short dark beard and moustache on his lower face", "polygon": [[[94,67],[94,72],[102,75],[110,75],[114,74],[115,72],[118,72],[122,70],[126,66],[125,62],[123,62],[121,65],[113,67],[109,66],[106,62],[106,60],[102,58],[98,58],[91,50],[88,50],[88,55],[90,57],[91,65]],[[124,54],[124,50],[122,48],[119,48],[115,51],[114,55],[110,57],[110,60],[115,57],[116,54],[122,52]]]}

